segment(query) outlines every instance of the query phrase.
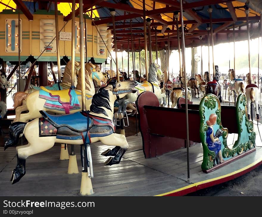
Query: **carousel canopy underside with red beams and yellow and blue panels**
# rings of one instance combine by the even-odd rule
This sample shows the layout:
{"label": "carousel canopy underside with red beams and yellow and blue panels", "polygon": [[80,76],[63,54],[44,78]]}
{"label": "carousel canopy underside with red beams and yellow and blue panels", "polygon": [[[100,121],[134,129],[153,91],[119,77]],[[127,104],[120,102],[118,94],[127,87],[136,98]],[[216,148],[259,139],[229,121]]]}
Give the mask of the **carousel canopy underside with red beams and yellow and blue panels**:
{"label": "carousel canopy underside with red beams and yellow and blue panels", "polygon": [[[32,14],[38,9],[54,10],[54,1],[48,0],[0,0],[0,11],[4,9],[17,9],[30,20]],[[76,0],[78,3],[78,0]],[[63,13],[64,21],[71,19],[71,0],[60,0],[58,10]],[[185,46],[193,47],[208,43],[207,27],[210,27],[210,15],[208,8],[212,11],[212,27],[214,44],[233,41],[235,32],[236,41],[247,39],[246,14],[249,9],[250,37],[258,37],[259,21],[261,20],[261,0],[186,0],[183,1],[183,19],[185,32]],[[84,1],[84,12],[93,18],[93,25],[107,24],[113,32],[112,16],[110,11],[115,10],[115,28],[117,48],[127,50],[128,43],[132,39],[135,50],[138,50],[139,39],[141,49],[144,47],[144,23],[143,23],[143,1],[142,0],[87,0]],[[76,5],[76,14],[78,4]],[[178,0],[145,0],[146,18],[151,21],[152,49],[165,48],[169,34],[170,48],[177,49],[177,27],[175,15],[178,15],[178,28],[181,29],[180,3]],[[235,30],[233,31],[233,26]],[[115,46],[115,45],[114,45]]]}

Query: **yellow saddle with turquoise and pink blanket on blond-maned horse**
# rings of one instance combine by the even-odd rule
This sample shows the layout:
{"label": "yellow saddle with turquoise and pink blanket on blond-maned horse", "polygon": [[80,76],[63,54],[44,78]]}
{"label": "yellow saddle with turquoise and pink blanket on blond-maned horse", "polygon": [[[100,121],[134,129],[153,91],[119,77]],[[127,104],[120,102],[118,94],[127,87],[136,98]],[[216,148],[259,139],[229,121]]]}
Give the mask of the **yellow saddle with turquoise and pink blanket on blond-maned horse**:
{"label": "yellow saddle with turquoise and pink blanket on blond-maned horse", "polygon": [[64,111],[66,114],[69,114],[71,110],[81,108],[74,89],[48,90],[45,87],[41,87],[39,98],[46,100],[44,108]]}

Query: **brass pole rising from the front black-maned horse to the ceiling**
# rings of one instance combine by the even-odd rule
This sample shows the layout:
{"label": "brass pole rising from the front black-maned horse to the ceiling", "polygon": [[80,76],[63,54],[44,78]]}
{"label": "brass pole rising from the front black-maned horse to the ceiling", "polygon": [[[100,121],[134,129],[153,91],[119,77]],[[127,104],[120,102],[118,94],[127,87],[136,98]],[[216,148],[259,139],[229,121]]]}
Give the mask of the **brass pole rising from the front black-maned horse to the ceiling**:
{"label": "brass pole rising from the front black-maned horse to the ceiling", "polygon": [[[85,103],[85,52],[84,52],[84,21],[83,21],[83,0],[79,0],[79,41],[80,41],[80,65],[81,65],[81,91],[82,111],[86,111]],[[85,161],[86,162],[86,161]]]}

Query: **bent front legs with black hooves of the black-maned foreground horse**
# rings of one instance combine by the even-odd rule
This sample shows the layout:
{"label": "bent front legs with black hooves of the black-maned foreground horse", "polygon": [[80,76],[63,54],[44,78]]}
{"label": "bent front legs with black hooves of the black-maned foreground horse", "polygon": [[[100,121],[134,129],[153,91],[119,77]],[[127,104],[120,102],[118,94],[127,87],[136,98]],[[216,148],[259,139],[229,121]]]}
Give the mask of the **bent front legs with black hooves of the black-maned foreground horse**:
{"label": "bent front legs with black hooves of the black-maned foreground horse", "polygon": [[117,151],[116,155],[114,157],[108,158],[104,165],[111,166],[113,164],[120,163],[122,156],[128,149],[126,137],[122,134],[113,133],[109,136],[100,137],[100,141],[105,145],[116,145],[116,147],[111,150],[112,154],[113,152]]}

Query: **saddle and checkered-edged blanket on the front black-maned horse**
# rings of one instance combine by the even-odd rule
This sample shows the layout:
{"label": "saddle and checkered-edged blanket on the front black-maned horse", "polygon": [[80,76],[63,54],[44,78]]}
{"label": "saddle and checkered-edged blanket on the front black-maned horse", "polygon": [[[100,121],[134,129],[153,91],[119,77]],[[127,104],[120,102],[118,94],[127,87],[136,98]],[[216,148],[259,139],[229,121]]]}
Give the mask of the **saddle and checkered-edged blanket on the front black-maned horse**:
{"label": "saddle and checkered-edged blanket on the front black-maned horse", "polygon": [[[41,136],[56,136],[57,139],[79,140],[90,143],[93,137],[109,136],[115,132],[112,120],[76,112],[66,115],[50,115],[40,111],[39,132]],[[87,123],[89,126],[87,127]],[[88,128],[88,130],[87,130]]]}

